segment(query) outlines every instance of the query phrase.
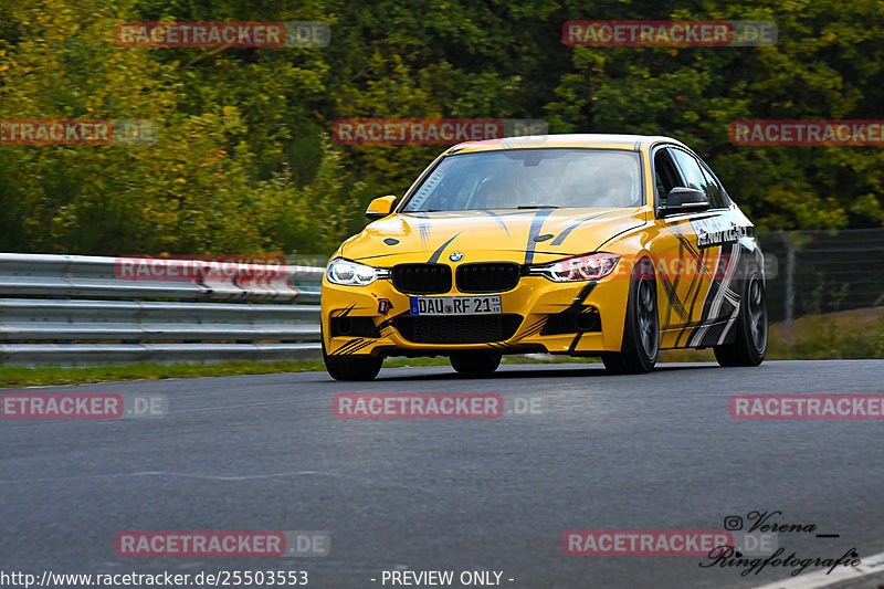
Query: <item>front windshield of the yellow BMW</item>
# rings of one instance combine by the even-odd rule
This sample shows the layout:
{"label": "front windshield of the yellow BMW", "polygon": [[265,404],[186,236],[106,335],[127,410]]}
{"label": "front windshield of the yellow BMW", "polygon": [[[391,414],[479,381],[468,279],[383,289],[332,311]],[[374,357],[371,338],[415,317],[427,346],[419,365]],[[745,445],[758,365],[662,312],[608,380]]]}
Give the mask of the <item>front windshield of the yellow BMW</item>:
{"label": "front windshield of the yellow BMW", "polygon": [[639,207],[639,154],[622,149],[508,149],[453,155],[402,212]]}

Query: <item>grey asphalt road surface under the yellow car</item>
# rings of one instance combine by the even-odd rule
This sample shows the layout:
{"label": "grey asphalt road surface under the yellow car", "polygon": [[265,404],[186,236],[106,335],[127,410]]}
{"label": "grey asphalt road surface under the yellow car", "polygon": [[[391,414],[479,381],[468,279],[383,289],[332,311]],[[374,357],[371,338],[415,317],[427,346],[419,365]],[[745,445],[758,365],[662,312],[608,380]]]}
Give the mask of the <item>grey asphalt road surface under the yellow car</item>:
{"label": "grey asphalt road surface under the yellow car", "polygon": [[[504,365],[29,389],[168,398],[165,417],[0,421],[0,570],[306,570],[309,587],[381,587],[385,570],[502,571],[502,585],[754,587],[792,569],[702,568],[699,556],[568,556],[569,529],[720,529],[782,512],[801,557],[884,550],[881,421],[737,421],[735,393],[881,393],[884,361]],[[3,390],[0,392],[12,392]],[[345,420],[339,392],[498,392],[539,414]],[[322,558],[125,558],[123,530],[327,530]],[[492,578],[494,578],[492,576]],[[371,579],[377,579],[372,581]],[[513,579],[512,581],[509,579]],[[387,587],[391,585],[388,582]],[[460,587],[460,583],[455,583]],[[413,586],[412,586],[413,587]]]}

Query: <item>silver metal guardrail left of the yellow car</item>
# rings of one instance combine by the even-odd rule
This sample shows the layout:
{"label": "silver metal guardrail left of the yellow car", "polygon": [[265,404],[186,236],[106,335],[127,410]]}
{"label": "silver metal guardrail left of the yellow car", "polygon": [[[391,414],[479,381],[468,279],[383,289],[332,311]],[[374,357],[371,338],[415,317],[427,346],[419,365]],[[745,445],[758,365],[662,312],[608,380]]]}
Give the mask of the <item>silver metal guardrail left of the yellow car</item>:
{"label": "silver metal guardrail left of the yellow car", "polygon": [[319,356],[322,267],[187,264],[0,254],[0,364]]}

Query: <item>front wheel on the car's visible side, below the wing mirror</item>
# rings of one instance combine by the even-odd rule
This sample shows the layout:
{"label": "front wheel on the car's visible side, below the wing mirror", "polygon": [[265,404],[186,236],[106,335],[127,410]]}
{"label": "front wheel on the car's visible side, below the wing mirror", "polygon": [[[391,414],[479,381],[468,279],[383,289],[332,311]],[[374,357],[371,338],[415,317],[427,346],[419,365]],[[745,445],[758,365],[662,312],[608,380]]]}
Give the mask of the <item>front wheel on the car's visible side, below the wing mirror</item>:
{"label": "front wheel on the car's visible side, below the wing mirror", "polygon": [[602,354],[609,372],[642,375],[654,369],[660,355],[660,316],[656,308],[656,281],[648,260],[632,275],[627,302],[627,320],[620,351]]}

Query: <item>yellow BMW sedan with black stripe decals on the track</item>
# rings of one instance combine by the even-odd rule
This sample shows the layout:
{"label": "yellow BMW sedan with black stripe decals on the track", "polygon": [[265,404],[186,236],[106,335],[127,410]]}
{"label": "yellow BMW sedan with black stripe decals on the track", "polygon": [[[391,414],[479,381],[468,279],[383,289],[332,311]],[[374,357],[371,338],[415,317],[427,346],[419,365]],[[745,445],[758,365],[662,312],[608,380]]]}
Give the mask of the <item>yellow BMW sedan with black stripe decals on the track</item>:
{"label": "yellow BMW sedan with black stripe decals on the track", "polygon": [[757,366],[767,348],[755,227],[669,137],[550,135],[445,150],[380,197],[332,256],[323,355],[338,380],[388,356],[491,375],[503,354],[600,356],[648,372],[661,349]]}

